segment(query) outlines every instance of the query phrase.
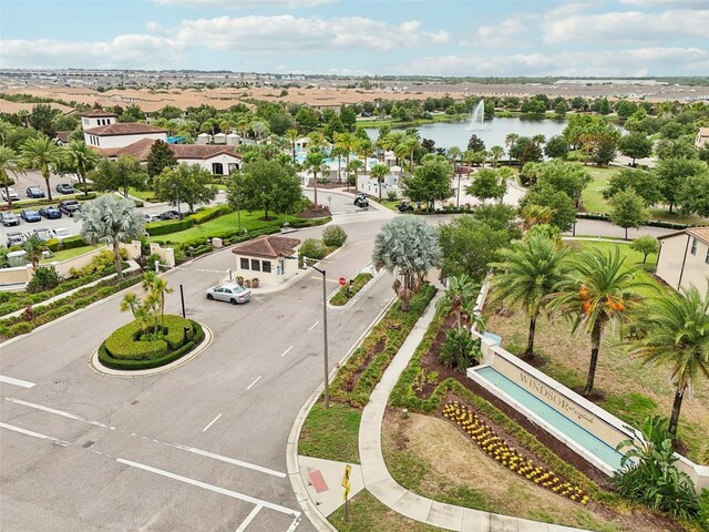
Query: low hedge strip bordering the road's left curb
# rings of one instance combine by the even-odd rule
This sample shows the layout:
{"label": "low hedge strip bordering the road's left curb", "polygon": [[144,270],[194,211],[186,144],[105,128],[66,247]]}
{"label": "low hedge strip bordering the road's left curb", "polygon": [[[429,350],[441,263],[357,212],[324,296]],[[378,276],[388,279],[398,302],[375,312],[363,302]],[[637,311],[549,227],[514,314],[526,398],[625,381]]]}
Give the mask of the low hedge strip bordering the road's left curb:
{"label": "low hedge strip bordering the road's left curb", "polygon": [[73,313],[80,308],[84,308],[92,303],[129,288],[141,280],[141,276],[134,275],[120,283],[116,283],[115,279],[110,279],[97,285],[83,288],[72,294],[70,297],[65,297],[33,309],[33,317],[31,321],[24,319],[23,316],[2,319],[0,320],[0,336],[12,338],[18,335],[30,332],[32,329],[41,325],[49,324],[56,318]]}

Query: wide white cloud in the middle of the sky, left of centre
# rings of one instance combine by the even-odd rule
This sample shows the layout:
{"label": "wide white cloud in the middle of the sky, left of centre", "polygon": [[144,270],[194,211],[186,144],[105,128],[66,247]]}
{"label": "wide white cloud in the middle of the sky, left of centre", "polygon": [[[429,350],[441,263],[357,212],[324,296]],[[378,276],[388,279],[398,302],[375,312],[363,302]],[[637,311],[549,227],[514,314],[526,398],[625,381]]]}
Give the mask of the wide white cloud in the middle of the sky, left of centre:
{"label": "wide white cloud in the middle of the sky, left of centre", "polygon": [[191,47],[280,53],[357,49],[387,52],[443,44],[450,39],[445,31],[422,31],[418,21],[392,25],[362,17],[322,19],[290,14],[184,20],[173,34]]}

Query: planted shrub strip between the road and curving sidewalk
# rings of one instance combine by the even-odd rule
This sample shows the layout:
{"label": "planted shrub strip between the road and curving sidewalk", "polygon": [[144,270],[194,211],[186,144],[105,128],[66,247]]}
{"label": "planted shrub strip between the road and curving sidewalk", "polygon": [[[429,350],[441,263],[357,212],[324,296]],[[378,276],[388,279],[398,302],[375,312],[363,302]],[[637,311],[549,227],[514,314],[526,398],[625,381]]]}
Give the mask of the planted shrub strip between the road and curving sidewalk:
{"label": "planted shrub strip between the road and curving sidewalk", "polygon": [[[413,296],[409,311],[401,310],[401,303],[397,301],[386,316],[377,324],[362,345],[350,356],[347,364],[340,368],[332,380],[330,396],[340,402],[348,402],[353,407],[363,407],[369,401],[369,396],[381,380],[381,376],[389,367],[391,359],[409,336],[409,332],[425,311],[427,306],[435,294],[435,287],[424,285],[421,291]],[[379,350],[367,369],[359,376],[352,388],[352,379],[359,368],[364,364],[371,350]],[[348,388],[352,388],[348,391]]]}

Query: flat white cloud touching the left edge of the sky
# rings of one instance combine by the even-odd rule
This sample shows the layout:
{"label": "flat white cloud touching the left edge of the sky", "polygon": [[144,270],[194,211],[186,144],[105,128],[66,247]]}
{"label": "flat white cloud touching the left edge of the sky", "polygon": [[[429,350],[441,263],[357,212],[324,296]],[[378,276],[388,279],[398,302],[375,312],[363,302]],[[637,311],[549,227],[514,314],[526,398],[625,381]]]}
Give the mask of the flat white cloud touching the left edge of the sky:
{"label": "flat white cloud touching the left edge of the sky", "polygon": [[[185,47],[153,35],[119,35],[102,42],[65,42],[52,39],[0,41],[4,68],[166,68],[176,66]],[[155,58],[162,63],[156,64]]]}

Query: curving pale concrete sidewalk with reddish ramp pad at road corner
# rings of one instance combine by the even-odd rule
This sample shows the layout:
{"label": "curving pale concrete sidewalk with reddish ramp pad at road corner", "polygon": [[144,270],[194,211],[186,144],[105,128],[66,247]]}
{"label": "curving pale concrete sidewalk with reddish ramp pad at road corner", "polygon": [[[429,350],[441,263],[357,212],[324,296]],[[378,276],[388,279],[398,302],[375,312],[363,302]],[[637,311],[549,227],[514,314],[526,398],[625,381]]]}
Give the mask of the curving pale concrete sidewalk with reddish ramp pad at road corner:
{"label": "curving pale concrete sidewalk with reddish ramp pad at road corner", "polygon": [[[435,304],[441,296],[442,291],[439,291],[429,304],[425,314],[417,321],[362,411],[359,430],[361,466],[352,468],[350,497],[353,497],[361,489],[367,489],[394,512],[444,530],[461,532],[580,532],[582,529],[541,523],[436,502],[404,489],[389,474],[381,452],[381,426],[389,395],[435,317]],[[342,504],[342,490],[339,488],[339,480],[342,477],[345,463],[297,456],[297,438],[294,438],[300,432],[300,426],[319,395],[320,390],[318,389],[304,406],[294,424],[291,439],[288,443],[287,461],[294,491],[304,512],[317,530],[329,532],[336,529],[327,521],[327,516]]]}

